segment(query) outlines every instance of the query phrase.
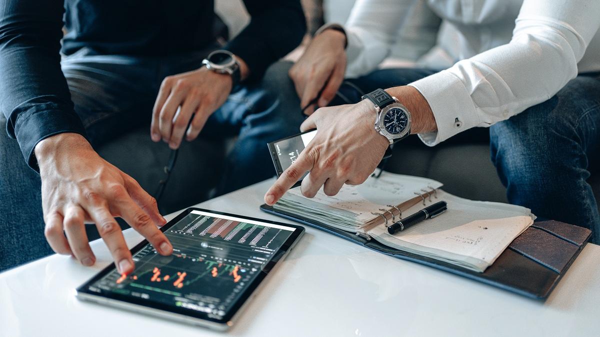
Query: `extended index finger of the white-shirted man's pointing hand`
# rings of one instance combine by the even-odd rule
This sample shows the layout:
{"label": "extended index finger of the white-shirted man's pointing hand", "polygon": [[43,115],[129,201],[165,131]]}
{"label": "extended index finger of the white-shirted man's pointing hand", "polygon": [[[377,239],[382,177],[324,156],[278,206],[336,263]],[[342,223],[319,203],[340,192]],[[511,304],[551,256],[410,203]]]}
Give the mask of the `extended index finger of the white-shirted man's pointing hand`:
{"label": "extended index finger of the white-shirted man's pointing hand", "polygon": [[300,179],[306,171],[310,171],[314,166],[314,156],[310,155],[310,149],[304,149],[296,160],[287,170],[283,171],[281,176],[275,181],[273,186],[265,194],[265,203],[269,206],[275,204],[288,189],[290,189]]}

